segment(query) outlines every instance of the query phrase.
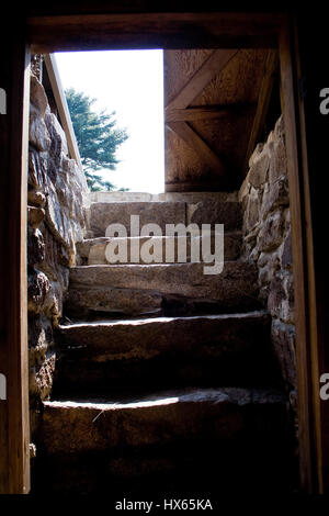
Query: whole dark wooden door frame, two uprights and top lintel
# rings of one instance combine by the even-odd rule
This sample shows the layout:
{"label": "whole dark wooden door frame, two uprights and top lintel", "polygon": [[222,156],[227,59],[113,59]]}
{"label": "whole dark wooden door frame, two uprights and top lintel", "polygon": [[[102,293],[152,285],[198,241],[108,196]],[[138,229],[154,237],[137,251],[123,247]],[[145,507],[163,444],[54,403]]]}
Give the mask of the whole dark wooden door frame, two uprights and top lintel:
{"label": "whole dark wooden door frame, two uprights and top lintel", "polygon": [[[111,8],[109,8],[111,9]],[[78,9],[77,9],[78,10]],[[65,8],[58,14],[63,14]],[[8,481],[0,474],[0,493],[29,492],[29,400],[26,341],[26,56],[34,52],[105,48],[276,47],[280,51],[283,110],[288,156],[290,201],[296,303],[296,355],[300,489],[321,492],[321,426],[318,400],[318,346],[310,193],[303,105],[298,91],[298,53],[292,16],[285,13],[103,13],[42,16],[26,22],[26,48],[18,47],[13,63],[15,88],[8,170],[11,173],[9,214],[8,317]],[[229,20],[228,20],[229,19]],[[229,23],[228,23],[229,21]],[[132,23],[134,22],[134,23]],[[191,26],[200,25],[198,31]],[[208,27],[208,33],[207,33]],[[229,29],[227,29],[229,27]],[[13,44],[13,47],[16,46]],[[13,82],[14,83],[14,82]],[[1,86],[1,85],[0,85]],[[18,127],[20,128],[18,131]],[[15,131],[15,133],[14,133]],[[19,322],[19,324],[18,324]],[[1,440],[0,446],[5,439]],[[8,451],[9,450],[9,451]],[[3,450],[0,450],[0,455]],[[19,457],[19,460],[16,458]],[[1,473],[1,470],[0,470]],[[3,472],[2,472],[3,473]],[[1,481],[2,479],[2,481]],[[2,483],[2,485],[1,485]]]}

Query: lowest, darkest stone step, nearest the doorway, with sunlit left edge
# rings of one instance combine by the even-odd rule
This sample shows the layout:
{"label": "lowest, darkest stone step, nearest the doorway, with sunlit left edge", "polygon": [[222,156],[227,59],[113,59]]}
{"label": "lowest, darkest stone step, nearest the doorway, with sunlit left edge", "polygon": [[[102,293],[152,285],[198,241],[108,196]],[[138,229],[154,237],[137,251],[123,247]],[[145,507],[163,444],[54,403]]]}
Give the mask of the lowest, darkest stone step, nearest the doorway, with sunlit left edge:
{"label": "lowest, darkest stone step, nearest the doorway, with sunlit left edge", "polygon": [[38,438],[43,493],[161,501],[257,486],[277,494],[296,473],[286,397],[274,390],[66,397],[44,403]]}

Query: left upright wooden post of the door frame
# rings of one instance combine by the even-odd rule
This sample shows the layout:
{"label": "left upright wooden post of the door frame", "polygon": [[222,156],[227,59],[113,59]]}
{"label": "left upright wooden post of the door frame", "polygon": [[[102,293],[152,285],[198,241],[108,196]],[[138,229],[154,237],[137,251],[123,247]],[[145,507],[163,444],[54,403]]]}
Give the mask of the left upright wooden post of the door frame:
{"label": "left upright wooden post of the door frame", "polygon": [[30,105],[30,52],[19,23],[1,45],[1,316],[0,372],[7,399],[0,400],[0,493],[30,491],[29,357],[26,300],[26,190]]}

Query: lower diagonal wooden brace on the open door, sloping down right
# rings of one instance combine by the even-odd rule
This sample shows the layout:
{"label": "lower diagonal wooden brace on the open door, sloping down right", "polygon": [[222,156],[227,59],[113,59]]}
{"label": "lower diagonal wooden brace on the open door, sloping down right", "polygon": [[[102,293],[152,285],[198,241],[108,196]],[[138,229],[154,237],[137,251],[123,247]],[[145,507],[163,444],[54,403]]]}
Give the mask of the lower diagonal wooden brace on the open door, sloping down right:
{"label": "lower diagonal wooden brace on the open door, sloping down right", "polygon": [[225,175],[222,159],[208,147],[208,145],[185,122],[170,122],[167,124],[171,131],[178,134],[204,161],[209,169],[215,170],[218,176]]}

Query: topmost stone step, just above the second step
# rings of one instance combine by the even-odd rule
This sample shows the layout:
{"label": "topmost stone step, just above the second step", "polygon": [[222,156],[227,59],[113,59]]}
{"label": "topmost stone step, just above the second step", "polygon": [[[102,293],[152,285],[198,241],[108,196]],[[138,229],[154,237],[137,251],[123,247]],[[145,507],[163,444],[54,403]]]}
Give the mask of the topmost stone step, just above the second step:
{"label": "topmost stone step, just above the second step", "polygon": [[[94,202],[90,205],[90,229],[94,237],[104,237],[110,224],[122,224],[131,233],[131,215],[139,215],[139,227],[157,224],[166,235],[167,224],[224,224],[225,231],[241,229],[239,202],[200,201],[193,204],[175,202]],[[122,235],[125,236],[125,235]]]}

